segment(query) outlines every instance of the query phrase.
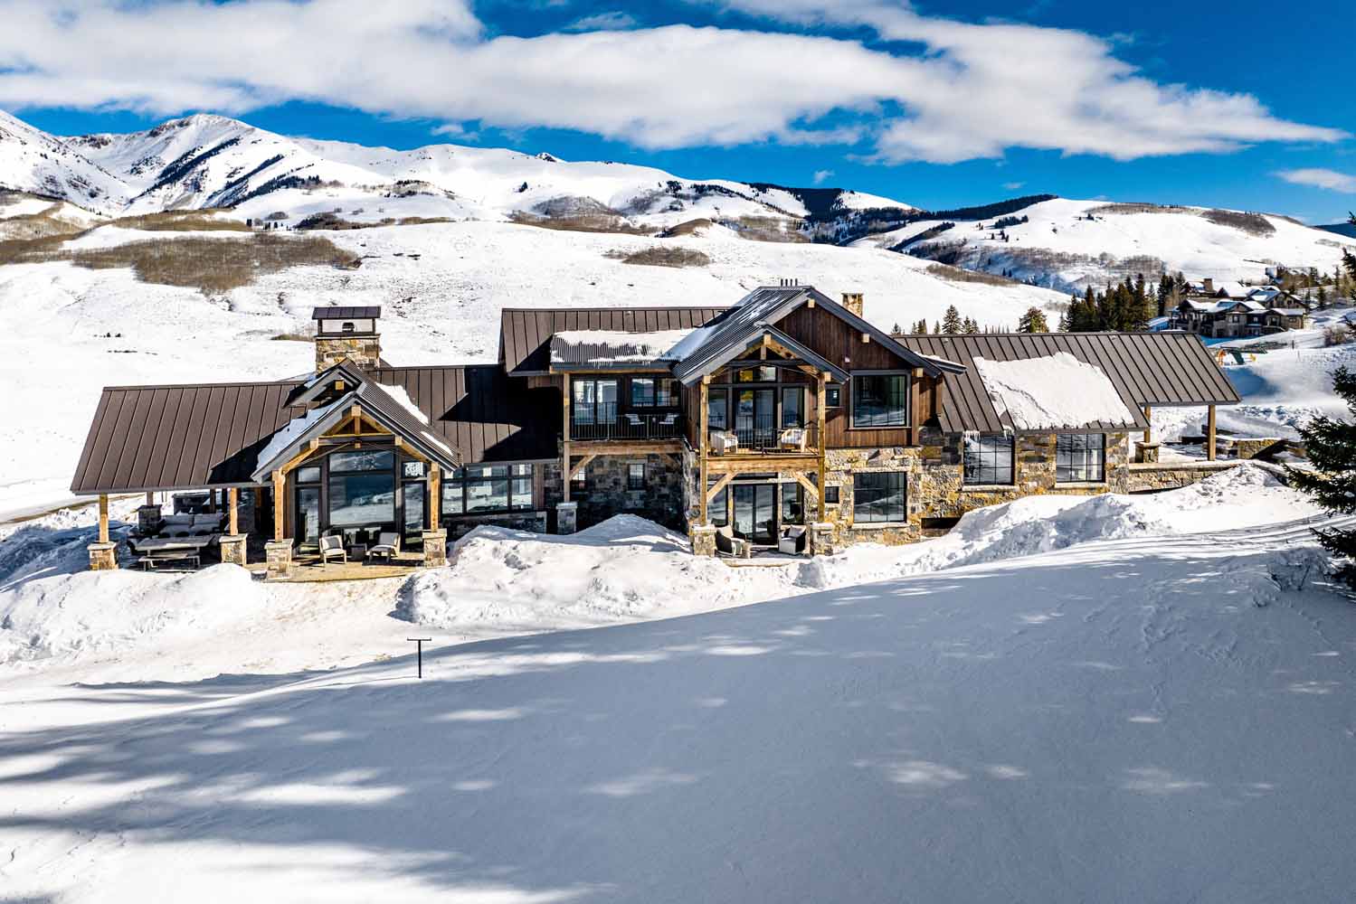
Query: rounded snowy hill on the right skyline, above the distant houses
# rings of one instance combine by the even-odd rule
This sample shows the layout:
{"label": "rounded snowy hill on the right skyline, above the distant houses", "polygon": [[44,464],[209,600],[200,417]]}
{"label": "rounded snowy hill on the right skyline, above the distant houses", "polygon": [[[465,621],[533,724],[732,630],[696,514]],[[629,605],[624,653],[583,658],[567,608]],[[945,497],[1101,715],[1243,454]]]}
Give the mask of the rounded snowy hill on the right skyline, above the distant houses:
{"label": "rounded snowy hill on the right skyline, above the distant houses", "polygon": [[1188,279],[1216,282],[1262,282],[1267,268],[1277,264],[1329,272],[1342,244],[1356,248],[1356,240],[1285,217],[1063,198],[984,221],[913,222],[856,244],[1035,279],[1064,291],[1140,272],[1154,279],[1181,271]]}

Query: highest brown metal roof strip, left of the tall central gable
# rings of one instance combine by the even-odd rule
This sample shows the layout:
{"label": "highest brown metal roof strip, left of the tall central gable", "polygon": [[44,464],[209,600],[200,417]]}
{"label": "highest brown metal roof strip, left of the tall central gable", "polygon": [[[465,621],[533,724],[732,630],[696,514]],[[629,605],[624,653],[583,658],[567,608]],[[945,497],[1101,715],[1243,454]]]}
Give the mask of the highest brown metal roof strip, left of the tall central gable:
{"label": "highest brown metal roof strip, left of the tall central gable", "polygon": [[551,337],[564,329],[696,329],[725,310],[724,306],[504,308],[499,314],[499,362],[510,374],[544,374],[551,366]]}

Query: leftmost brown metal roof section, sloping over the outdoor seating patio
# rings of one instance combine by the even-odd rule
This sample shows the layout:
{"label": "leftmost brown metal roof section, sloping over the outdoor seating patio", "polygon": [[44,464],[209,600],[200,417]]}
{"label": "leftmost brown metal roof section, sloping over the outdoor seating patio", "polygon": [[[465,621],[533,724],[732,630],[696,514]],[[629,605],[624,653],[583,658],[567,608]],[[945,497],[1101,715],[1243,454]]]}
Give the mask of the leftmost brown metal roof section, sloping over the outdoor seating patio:
{"label": "leftmost brown metal roof section, sloping over the outdoor seating patio", "polygon": [[71,492],[142,492],[250,484],[255,458],[292,417],[297,384],[108,386]]}

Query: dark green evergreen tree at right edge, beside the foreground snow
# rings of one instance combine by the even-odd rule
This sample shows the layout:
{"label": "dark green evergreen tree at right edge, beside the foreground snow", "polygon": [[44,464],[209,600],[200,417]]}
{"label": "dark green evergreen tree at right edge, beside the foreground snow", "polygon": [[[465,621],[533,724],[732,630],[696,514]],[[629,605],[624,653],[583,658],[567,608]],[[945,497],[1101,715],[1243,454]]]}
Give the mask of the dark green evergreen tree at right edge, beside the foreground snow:
{"label": "dark green evergreen tree at right edge, beside the foreground snow", "polygon": [[[1356,374],[1338,367],[1333,390],[1356,417]],[[1356,512],[1356,424],[1319,415],[1299,428],[1314,470],[1287,466],[1291,482],[1303,489],[1328,511],[1341,515]],[[1344,557],[1337,577],[1356,587],[1356,530],[1318,529],[1318,542],[1328,552]]]}

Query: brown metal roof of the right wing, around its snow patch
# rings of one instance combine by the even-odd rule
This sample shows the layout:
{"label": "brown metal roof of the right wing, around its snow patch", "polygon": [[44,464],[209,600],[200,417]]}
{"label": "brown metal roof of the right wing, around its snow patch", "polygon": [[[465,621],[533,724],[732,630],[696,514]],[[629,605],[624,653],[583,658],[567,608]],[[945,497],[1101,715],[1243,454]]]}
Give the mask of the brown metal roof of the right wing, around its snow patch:
{"label": "brown metal roof of the right wing, around its snow patch", "polygon": [[[974,367],[975,358],[1021,361],[1066,351],[1096,365],[1116,386],[1127,408],[1143,427],[1142,409],[1176,405],[1233,405],[1239,401],[1224,371],[1197,336],[1157,333],[975,333],[964,336],[898,336],[925,355],[965,365],[963,374],[942,379],[941,428],[946,432],[975,430],[1001,432],[999,419]],[[1112,430],[1090,424],[1090,430]]]}

